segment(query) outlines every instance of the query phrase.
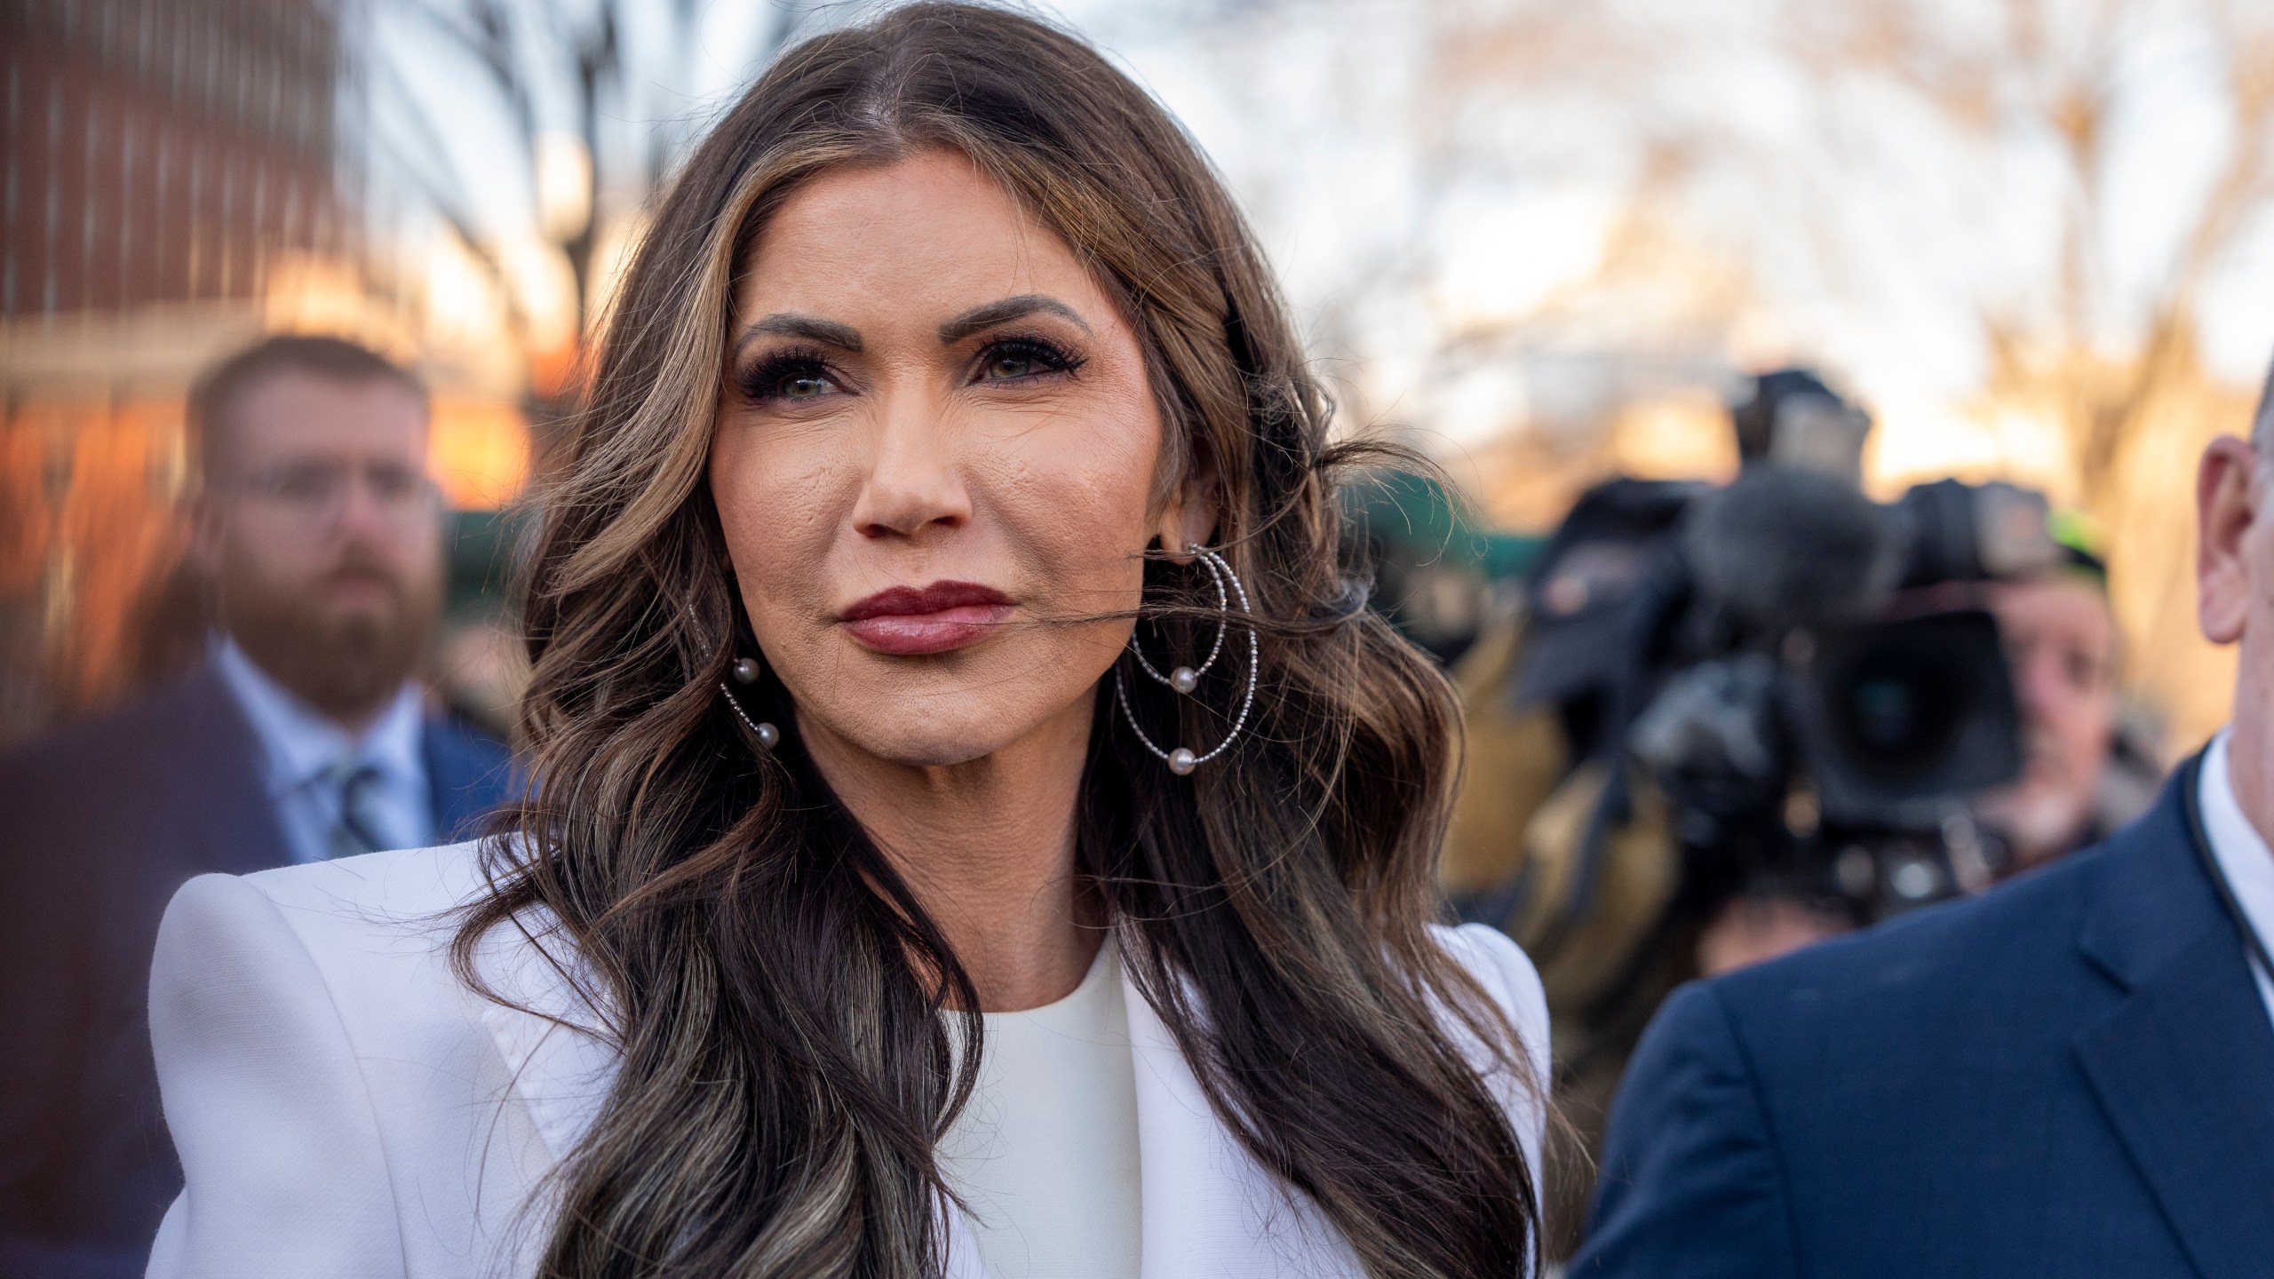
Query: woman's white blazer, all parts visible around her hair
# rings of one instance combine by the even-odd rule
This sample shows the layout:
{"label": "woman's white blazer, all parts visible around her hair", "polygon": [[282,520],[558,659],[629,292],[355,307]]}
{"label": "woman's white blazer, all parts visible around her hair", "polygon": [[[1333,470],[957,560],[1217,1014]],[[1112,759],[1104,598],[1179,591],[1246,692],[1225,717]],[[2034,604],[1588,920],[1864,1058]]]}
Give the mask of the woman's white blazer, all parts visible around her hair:
{"label": "woman's white blazer, all parts visible around her hair", "polygon": [[[448,913],[480,892],[473,844],[182,888],[159,929],[150,1033],[189,1181],[159,1227],[155,1279],[534,1272],[550,1231],[543,1177],[607,1097],[616,1056],[457,981]],[[1546,1079],[1546,999],[1530,960],[1492,929],[1439,935]],[[478,963],[530,1008],[596,1024],[516,929],[493,929]],[[1362,1274],[1323,1215],[1217,1122],[1167,1026],[1126,995],[1144,1277]],[[1505,1072],[1489,1083],[1537,1170],[1537,1099]],[[957,1213],[948,1274],[985,1279]]]}

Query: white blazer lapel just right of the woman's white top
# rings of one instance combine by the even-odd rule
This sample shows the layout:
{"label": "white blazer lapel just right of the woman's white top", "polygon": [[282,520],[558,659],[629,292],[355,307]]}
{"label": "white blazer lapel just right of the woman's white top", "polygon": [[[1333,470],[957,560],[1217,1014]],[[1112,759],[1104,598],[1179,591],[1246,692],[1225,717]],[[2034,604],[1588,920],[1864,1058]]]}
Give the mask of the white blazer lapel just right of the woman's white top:
{"label": "white blazer lapel just right of the woman's white top", "polygon": [[1144,1279],[1337,1277],[1364,1268],[1314,1204],[1287,1190],[1239,1145],[1123,965],[1137,1058],[1137,1145],[1144,1170]]}

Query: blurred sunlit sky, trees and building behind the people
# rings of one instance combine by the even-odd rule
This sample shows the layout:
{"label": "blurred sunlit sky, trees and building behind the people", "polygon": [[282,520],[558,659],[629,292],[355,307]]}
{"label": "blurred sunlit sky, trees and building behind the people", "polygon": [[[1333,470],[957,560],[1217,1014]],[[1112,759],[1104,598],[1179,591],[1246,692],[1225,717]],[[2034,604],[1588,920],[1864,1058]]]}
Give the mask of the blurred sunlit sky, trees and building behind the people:
{"label": "blurred sunlit sky, trees and building behind the people", "polygon": [[[500,521],[766,0],[5,0],[0,740],[180,662],[182,396],[337,332],[437,396],[437,678],[512,696]],[[2263,0],[1069,0],[1228,175],[1346,430],[1476,533],[1615,471],[1735,469],[1746,371],[1876,416],[1869,485],[2012,478],[2099,521],[2174,749],[2222,717],[2192,467],[2274,350]],[[1499,571],[1478,539],[1446,555]],[[1453,612],[1483,592],[1458,594]],[[191,637],[193,640],[193,637]]]}

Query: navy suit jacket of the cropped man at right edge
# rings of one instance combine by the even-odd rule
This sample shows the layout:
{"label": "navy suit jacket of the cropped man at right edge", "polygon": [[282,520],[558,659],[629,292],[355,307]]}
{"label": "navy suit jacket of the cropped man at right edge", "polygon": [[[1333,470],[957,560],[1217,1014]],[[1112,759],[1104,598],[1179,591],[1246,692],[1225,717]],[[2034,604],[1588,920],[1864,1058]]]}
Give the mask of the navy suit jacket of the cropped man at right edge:
{"label": "navy suit jacket of the cropped man at right edge", "polygon": [[1690,985],[1612,1108],[1571,1274],[2265,1279],[2274,1026],[2244,956],[2174,783],[1997,892]]}

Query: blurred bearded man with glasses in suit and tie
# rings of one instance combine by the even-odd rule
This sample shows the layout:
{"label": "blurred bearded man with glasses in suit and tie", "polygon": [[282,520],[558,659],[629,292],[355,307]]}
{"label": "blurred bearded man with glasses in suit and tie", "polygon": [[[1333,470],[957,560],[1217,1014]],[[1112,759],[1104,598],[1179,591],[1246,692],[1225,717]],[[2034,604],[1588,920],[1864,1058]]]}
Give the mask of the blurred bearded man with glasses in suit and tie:
{"label": "blurred bearded man with glasses in suit and tie", "polygon": [[0,1272],[141,1274],[182,1174],[146,983],[196,874],[466,833],[505,746],[418,685],[443,599],[428,394],[384,357],[275,337],[191,391],[205,662],[0,756]]}

